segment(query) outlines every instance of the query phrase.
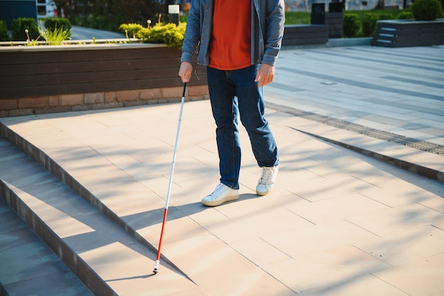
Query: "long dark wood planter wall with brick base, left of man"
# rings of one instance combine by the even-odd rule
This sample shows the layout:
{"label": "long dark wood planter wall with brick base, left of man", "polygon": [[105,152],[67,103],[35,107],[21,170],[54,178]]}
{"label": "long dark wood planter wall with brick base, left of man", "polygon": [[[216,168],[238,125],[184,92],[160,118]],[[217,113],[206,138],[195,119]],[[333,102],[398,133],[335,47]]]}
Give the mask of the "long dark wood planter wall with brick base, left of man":
{"label": "long dark wood planter wall with brick base, left of man", "polygon": [[[152,104],[182,96],[180,51],[165,45],[0,48],[0,116]],[[187,95],[208,96],[206,69]]]}

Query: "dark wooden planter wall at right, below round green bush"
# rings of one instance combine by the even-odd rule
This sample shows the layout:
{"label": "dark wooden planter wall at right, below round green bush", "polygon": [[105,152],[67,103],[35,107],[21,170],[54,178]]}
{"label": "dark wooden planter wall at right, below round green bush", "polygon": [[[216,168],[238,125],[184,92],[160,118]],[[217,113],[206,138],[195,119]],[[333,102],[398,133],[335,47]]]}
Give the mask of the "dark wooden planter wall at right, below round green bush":
{"label": "dark wooden planter wall at right, below round green bush", "polygon": [[444,19],[378,21],[372,45],[389,48],[444,44]]}

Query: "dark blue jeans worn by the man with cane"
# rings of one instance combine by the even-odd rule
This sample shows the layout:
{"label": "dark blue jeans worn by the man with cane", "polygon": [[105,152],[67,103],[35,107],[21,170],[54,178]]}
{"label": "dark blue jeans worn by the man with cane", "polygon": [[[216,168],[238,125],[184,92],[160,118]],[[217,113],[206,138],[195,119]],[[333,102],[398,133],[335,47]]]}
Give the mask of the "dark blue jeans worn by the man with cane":
{"label": "dark blue jeans worn by the man with cane", "polygon": [[221,183],[239,189],[240,141],[238,117],[245,127],[257,165],[272,167],[279,163],[276,141],[264,118],[263,87],[255,77],[259,65],[223,71],[207,67],[211,110],[216,121]]}

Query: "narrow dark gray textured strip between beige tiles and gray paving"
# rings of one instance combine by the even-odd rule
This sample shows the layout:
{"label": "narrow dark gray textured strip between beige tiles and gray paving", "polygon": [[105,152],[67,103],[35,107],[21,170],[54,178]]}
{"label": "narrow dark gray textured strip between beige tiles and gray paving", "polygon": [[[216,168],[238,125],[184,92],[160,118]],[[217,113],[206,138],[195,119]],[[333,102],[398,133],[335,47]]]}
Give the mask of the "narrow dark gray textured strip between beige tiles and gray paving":
{"label": "narrow dark gray textured strip between beige tiles and gray paving", "polygon": [[389,141],[392,143],[397,143],[403,146],[407,146],[410,148],[415,148],[417,150],[421,150],[428,153],[434,153],[438,155],[444,155],[444,146],[428,142],[418,140],[416,138],[409,138],[401,135],[397,135],[396,133],[390,133],[388,131],[381,131],[376,128],[369,128],[366,126],[361,126],[360,124],[353,124],[348,121],[343,121],[341,119],[333,119],[328,116],[323,116],[319,114],[314,114],[309,111],[301,111],[298,109],[294,109],[287,106],[282,106],[278,104],[273,104],[267,102],[267,106],[271,109],[282,111],[288,114],[292,114],[294,116],[299,116],[304,119],[309,119],[312,121],[321,122],[322,124],[327,124],[328,126],[333,126],[335,128],[345,129],[347,131],[353,131],[355,133],[360,133],[364,136],[370,136],[372,138],[377,138],[383,141]]}

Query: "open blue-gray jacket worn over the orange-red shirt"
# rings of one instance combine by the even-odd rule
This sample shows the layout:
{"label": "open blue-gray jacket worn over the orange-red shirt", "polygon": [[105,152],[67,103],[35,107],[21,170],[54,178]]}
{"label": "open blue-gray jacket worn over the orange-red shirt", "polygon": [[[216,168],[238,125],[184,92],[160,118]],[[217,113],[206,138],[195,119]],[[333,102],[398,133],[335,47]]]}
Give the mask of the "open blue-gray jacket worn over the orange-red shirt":
{"label": "open blue-gray jacket worn over the orange-red shirt", "polygon": [[[284,0],[251,0],[251,64],[274,65],[284,35]],[[192,0],[187,19],[181,62],[192,62],[199,44],[197,62],[209,64],[213,0]]]}

